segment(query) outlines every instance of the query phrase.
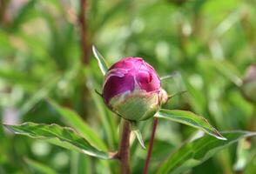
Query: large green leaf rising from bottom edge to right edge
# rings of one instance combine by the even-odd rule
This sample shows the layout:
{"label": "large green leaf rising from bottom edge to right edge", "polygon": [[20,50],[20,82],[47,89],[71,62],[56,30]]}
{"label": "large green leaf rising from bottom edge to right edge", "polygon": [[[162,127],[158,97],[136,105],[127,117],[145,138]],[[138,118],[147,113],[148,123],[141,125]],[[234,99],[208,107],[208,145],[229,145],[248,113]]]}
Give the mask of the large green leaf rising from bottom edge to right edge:
{"label": "large green leaf rising from bottom edge to right edge", "polygon": [[216,152],[226,148],[226,146],[234,144],[242,138],[255,136],[256,132],[232,131],[223,132],[223,135],[227,138],[226,141],[205,136],[192,142],[187,142],[167,158],[165,163],[158,169],[158,173],[182,173],[203,163]]}

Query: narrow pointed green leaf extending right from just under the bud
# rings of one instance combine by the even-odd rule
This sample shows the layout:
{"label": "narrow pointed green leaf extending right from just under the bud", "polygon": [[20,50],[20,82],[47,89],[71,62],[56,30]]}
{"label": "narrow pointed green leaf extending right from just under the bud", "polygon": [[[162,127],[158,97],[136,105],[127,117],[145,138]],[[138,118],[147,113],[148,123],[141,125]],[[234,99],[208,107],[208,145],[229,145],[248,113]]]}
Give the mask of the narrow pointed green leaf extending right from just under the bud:
{"label": "narrow pointed green leaf extending right from just under the bud", "polygon": [[205,119],[205,117],[199,117],[192,113],[191,111],[186,110],[159,110],[154,117],[160,117],[178,122],[181,124],[190,125],[199,130],[205,131],[205,133],[217,137],[222,140],[226,140],[219,131],[212,127],[211,124]]}

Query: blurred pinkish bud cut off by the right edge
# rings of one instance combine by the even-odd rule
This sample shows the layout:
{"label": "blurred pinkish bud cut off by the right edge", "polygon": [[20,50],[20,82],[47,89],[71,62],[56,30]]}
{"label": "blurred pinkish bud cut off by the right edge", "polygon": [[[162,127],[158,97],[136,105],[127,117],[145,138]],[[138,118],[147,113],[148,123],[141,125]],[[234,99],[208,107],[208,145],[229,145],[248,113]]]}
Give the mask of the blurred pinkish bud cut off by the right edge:
{"label": "blurred pinkish bud cut off by the right edge", "polygon": [[249,66],[242,85],[243,95],[250,102],[256,103],[256,64]]}

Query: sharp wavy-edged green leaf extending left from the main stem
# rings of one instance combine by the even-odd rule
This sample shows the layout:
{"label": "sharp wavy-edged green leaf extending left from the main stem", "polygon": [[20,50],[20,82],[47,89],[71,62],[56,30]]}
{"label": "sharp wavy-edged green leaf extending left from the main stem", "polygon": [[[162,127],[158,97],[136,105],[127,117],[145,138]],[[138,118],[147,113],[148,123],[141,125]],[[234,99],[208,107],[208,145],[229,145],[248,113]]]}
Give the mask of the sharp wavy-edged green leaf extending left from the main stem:
{"label": "sharp wavy-edged green leaf extending left from the main stem", "polygon": [[68,127],[61,127],[57,124],[35,124],[30,122],[19,125],[3,124],[3,126],[16,134],[41,139],[68,150],[78,151],[102,159],[111,158],[108,152],[99,151],[87,139]]}

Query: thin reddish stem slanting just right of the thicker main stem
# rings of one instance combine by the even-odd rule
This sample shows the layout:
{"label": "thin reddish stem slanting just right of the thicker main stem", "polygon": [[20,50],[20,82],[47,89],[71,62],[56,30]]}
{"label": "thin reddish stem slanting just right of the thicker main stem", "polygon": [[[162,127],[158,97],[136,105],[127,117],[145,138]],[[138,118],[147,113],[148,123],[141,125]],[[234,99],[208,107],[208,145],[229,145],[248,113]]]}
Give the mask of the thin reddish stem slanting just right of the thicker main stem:
{"label": "thin reddish stem slanting just right of the thicker main stem", "polygon": [[146,157],[146,160],[145,160],[145,166],[144,166],[143,174],[148,173],[148,168],[149,168],[149,164],[150,164],[150,159],[152,157],[152,150],[153,150],[153,144],[154,144],[154,138],[155,138],[157,126],[158,126],[158,117],[155,117],[154,121],[153,121],[152,136],[151,136],[151,139],[150,139],[149,149],[148,149],[147,157]]}

